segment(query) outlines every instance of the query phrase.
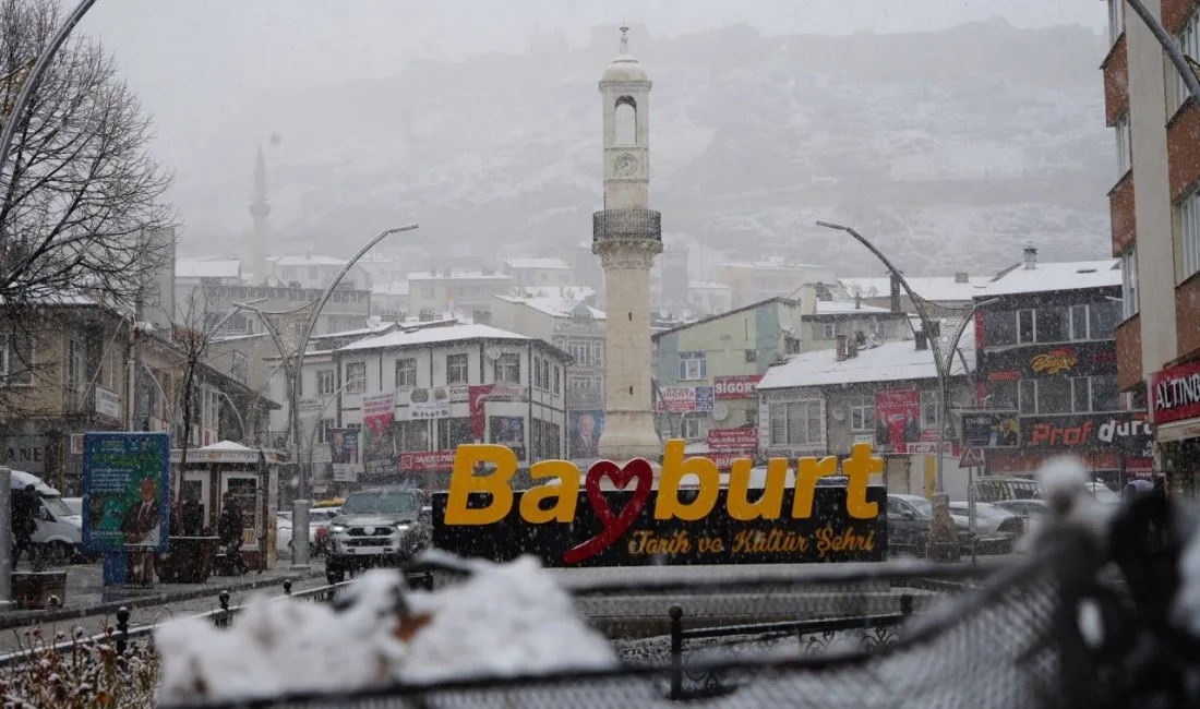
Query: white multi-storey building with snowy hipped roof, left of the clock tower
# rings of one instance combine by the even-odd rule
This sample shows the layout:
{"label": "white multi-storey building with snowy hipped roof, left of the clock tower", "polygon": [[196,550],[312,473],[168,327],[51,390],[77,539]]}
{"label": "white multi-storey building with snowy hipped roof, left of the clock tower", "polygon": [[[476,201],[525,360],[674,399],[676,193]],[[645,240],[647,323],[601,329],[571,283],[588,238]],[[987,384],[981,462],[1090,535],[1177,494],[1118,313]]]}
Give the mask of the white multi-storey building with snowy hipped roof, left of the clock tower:
{"label": "white multi-storey building with snowy hipped roof, left of the clock tower", "polygon": [[547,342],[473,324],[395,331],[331,354],[337,428],[370,427],[365,403],[391,403],[360,481],[445,489],[468,443],[512,449],[522,471],[566,450],[569,355]]}

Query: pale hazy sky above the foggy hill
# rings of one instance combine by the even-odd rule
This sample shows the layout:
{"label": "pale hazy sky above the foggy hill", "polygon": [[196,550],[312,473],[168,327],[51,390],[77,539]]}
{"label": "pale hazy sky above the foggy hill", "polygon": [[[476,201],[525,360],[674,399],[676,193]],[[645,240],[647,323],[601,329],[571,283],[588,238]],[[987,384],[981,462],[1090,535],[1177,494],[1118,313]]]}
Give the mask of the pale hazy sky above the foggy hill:
{"label": "pale hazy sky above the foggy hill", "polygon": [[180,161],[186,145],[173,137],[194,133],[181,122],[220,119],[264,89],[385,77],[419,56],[521,52],[535,30],[582,43],[590,25],[622,16],[658,35],[734,22],[770,34],[899,32],[994,14],[1021,26],[1106,22],[1098,0],[98,0],[77,31],[118,55],[158,118],[164,157]]}

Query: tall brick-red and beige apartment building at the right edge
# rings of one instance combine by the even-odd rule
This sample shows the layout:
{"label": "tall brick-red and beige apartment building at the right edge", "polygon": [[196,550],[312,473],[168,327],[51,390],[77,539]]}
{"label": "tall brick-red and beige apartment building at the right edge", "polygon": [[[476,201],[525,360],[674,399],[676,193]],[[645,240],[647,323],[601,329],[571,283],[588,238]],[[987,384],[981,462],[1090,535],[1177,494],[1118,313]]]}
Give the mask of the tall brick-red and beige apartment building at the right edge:
{"label": "tall brick-red and beige apartment building at the right edge", "polygon": [[[1200,106],[1151,29],[1109,2],[1104,120],[1116,166],[1112,256],[1123,271],[1117,385],[1156,425],[1154,468],[1172,494],[1200,494]],[[1184,54],[1200,59],[1200,2],[1145,0]],[[1148,401],[1147,401],[1148,393]]]}

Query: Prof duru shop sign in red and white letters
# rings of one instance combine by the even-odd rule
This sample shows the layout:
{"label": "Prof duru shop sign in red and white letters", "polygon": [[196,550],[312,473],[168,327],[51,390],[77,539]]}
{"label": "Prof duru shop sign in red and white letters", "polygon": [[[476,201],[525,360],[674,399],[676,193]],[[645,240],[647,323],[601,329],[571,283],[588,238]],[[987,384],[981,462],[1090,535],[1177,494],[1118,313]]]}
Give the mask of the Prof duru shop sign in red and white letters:
{"label": "Prof duru shop sign in red and white letters", "polygon": [[1154,435],[1145,411],[1026,416],[1021,419],[1026,450],[1115,447],[1132,456],[1153,456]]}

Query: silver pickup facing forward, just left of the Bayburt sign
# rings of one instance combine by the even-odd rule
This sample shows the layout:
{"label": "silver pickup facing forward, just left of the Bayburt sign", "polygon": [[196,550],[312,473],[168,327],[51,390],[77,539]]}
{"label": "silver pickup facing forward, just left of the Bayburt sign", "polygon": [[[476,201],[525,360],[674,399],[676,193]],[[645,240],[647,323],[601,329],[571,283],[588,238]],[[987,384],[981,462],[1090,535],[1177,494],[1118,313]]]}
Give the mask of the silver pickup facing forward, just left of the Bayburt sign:
{"label": "silver pickup facing forward, just left of the Bayburt sign", "polygon": [[430,543],[425,495],[409,487],[372,487],[350,493],[329,525],[325,575],[346,581],[348,571],[400,567]]}

